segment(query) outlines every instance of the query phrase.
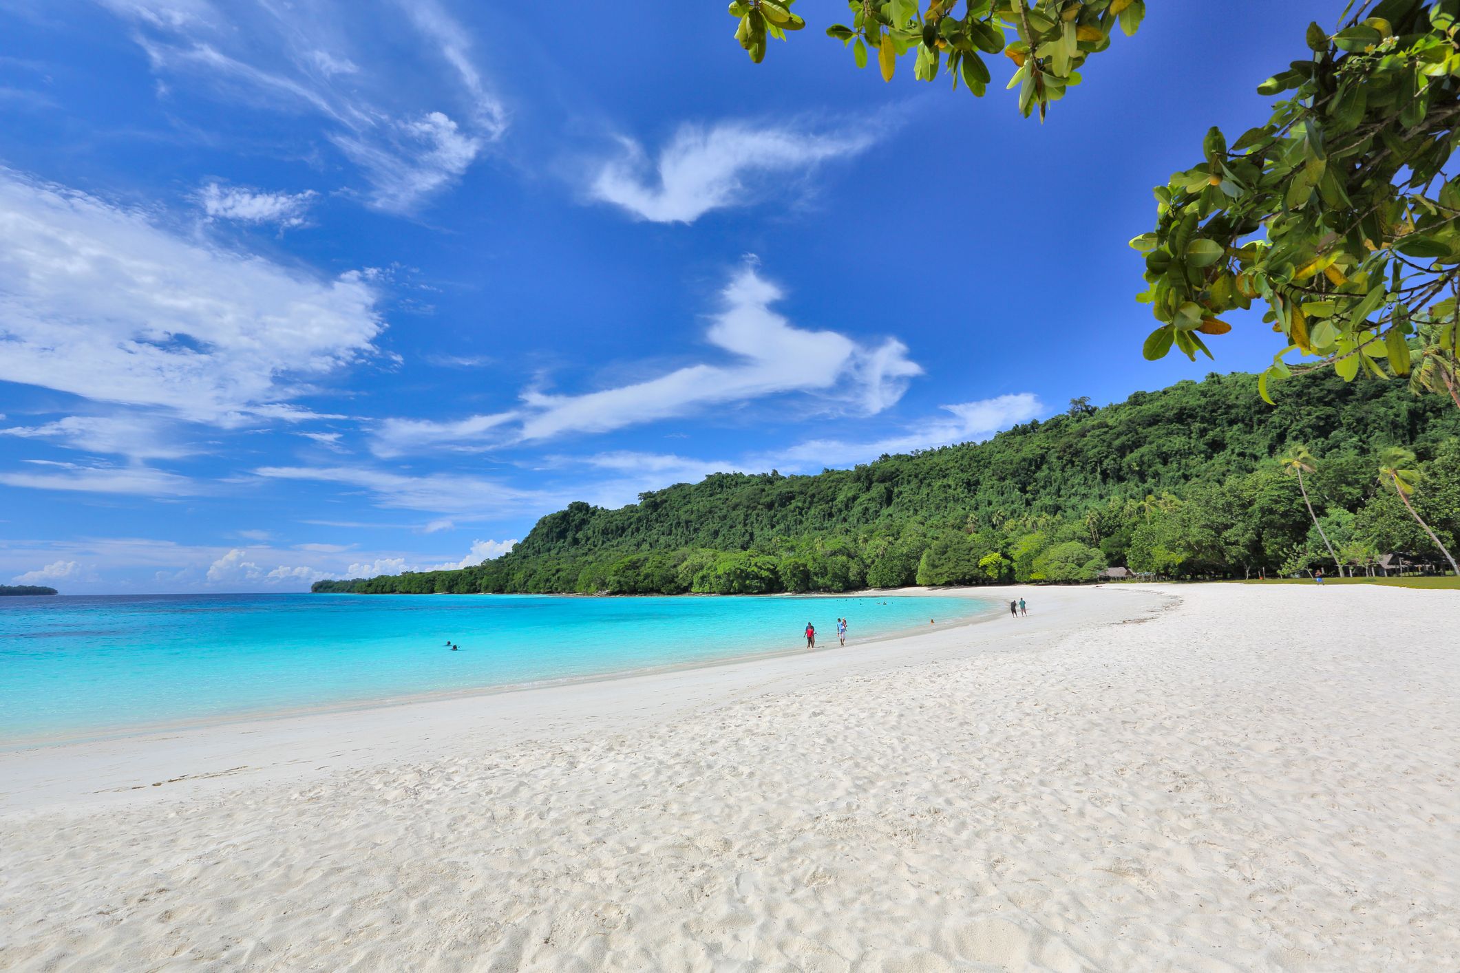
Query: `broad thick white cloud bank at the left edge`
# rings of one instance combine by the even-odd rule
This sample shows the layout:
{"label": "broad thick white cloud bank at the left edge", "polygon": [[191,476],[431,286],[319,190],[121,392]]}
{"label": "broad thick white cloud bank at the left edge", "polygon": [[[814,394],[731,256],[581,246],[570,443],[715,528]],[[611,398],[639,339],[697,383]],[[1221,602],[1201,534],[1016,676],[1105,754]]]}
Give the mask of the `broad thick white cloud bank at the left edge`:
{"label": "broad thick white cloud bank at the left edge", "polygon": [[317,280],[0,169],[0,381],[199,422],[299,417],[280,400],[374,352],[375,302],[359,274]]}

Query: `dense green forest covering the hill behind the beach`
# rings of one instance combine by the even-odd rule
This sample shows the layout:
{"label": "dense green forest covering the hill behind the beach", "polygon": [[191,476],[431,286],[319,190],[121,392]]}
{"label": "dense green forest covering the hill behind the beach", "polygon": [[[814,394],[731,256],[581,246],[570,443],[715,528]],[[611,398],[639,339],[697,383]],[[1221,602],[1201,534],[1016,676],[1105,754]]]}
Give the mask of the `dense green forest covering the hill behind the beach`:
{"label": "dense green forest covering the hill behind the beach", "polygon": [[[1264,404],[1254,375],[1209,375],[1015,426],[981,443],[816,476],[723,473],[619,509],[571,503],[508,554],[463,570],[323,581],[314,591],[758,594],[896,585],[1371,570],[1403,551],[1442,563],[1394,489],[1460,537],[1460,410],[1400,382],[1295,378]],[[1302,484],[1282,458],[1305,446]],[[1318,530],[1321,527],[1321,531]],[[1333,548],[1334,556],[1329,554]]]}

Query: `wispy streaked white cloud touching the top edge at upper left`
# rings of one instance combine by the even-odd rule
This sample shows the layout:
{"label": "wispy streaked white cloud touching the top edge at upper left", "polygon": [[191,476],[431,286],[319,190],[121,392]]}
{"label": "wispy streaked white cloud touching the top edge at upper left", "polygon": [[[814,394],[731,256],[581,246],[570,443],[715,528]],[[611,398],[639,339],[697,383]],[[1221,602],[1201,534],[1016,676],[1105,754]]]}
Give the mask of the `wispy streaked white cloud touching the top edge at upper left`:
{"label": "wispy streaked white cloud touching the top edge at upper left", "polygon": [[[362,34],[356,7],[98,1],[133,25],[156,74],[193,82],[188,93],[318,115],[321,134],[361,166],[369,203],[383,210],[413,212],[507,128],[466,29],[434,0],[402,1],[394,19],[374,19],[372,34],[390,34],[388,57],[369,42],[352,50],[349,38]],[[162,95],[172,96],[166,86]]]}

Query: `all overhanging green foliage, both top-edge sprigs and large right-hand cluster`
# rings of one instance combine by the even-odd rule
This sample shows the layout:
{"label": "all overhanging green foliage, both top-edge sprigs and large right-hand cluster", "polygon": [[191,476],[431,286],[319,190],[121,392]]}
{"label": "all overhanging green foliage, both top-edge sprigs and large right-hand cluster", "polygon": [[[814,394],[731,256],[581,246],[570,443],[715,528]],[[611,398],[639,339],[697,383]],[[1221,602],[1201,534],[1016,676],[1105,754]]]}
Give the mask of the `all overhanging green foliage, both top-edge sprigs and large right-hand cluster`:
{"label": "all overhanging green foliage, both top-edge sprigs and large right-hand cluster", "polygon": [[[736,36],[753,61],[766,36],[804,22],[794,0],[736,0]],[[1118,28],[1134,34],[1145,0],[850,0],[851,23],[826,34],[885,80],[911,55],[983,95],[984,55],[1015,64],[1019,109],[1038,111],[1079,85]],[[1012,36],[1010,36],[1012,35]],[[1330,34],[1308,26],[1308,57],[1259,86],[1291,95],[1266,124],[1156,187],[1156,228],[1132,241],[1146,257],[1137,299],[1161,322],[1148,359],[1172,347],[1196,360],[1231,331],[1234,309],[1266,305],[1282,347],[1260,394],[1330,366],[1345,381],[1409,376],[1460,408],[1460,178],[1445,172],[1460,139],[1460,0],[1350,0]]]}

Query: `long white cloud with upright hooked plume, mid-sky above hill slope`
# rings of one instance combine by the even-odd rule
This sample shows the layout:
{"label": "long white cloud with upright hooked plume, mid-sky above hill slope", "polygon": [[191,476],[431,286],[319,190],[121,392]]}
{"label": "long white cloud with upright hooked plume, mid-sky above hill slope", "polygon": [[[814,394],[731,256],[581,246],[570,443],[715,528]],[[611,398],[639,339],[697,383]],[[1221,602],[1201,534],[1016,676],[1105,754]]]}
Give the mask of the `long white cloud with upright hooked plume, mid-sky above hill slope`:
{"label": "long white cloud with upright hooked plume, mid-sky above hill slope", "polygon": [[888,338],[861,344],[837,331],[794,327],[771,309],[780,287],[743,267],[721,292],[721,309],[705,338],[731,356],[724,365],[691,365],[658,378],[580,395],[529,391],[523,408],[456,422],[387,419],[372,449],[393,457],[456,443],[521,443],[566,433],[602,433],[682,417],[710,406],[810,394],[857,414],[896,403],[923,369],[907,346]]}

